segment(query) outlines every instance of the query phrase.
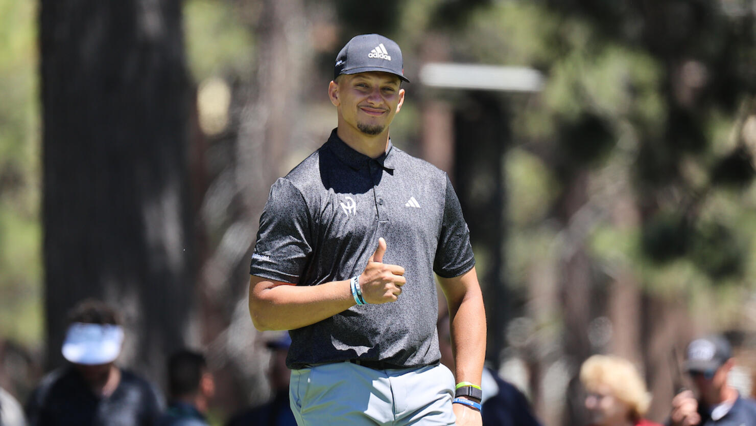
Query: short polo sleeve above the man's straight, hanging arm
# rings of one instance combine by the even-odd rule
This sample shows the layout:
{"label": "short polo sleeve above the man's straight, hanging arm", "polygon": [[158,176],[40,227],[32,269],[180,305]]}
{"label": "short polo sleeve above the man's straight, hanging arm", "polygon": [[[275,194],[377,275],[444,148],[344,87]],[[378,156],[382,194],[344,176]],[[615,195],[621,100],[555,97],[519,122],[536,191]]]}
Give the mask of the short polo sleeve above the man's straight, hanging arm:
{"label": "short polo sleeve above the man's straight, hanging arm", "polygon": [[475,257],[472,256],[469,229],[462,216],[457,193],[446,176],[444,217],[433,260],[433,271],[443,278],[454,278],[469,271],[472,266],[475,266]]}

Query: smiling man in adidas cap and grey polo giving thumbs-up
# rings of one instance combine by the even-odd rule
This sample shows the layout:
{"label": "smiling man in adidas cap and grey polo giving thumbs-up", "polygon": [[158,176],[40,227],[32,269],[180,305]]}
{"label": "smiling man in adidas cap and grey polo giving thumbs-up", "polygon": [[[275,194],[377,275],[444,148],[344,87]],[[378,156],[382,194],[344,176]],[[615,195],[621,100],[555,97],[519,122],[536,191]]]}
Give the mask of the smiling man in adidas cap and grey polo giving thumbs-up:
{"label": "smiling man in adidas cap and grey polo giving thumbs-up", "polygon": [[[481,424],[485,313],[467,225],[446,174],[389,139],[408,81],[401,51],[356,36],[334,77],[336,129],[274,183],[260,217],[253,322],[290,330],[302,426]],[[438,364],[433,272],[450,306],[458,397]]]}

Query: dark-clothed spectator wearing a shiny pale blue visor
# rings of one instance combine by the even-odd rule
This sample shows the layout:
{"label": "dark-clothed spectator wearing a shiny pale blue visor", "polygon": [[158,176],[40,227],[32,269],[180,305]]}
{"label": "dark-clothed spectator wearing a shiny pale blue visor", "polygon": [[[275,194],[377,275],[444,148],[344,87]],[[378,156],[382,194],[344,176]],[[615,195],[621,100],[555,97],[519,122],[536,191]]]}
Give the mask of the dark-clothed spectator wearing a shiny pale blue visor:
{"label": "dark-clothed spectator wearing a shiny pale blue visor", "polygon": [[123,344],[116,311],[99,300],[75,306],[63,344],[70,364],[42,378],[26,403],[31,426],[153,426],[163,399],[115,365]]}

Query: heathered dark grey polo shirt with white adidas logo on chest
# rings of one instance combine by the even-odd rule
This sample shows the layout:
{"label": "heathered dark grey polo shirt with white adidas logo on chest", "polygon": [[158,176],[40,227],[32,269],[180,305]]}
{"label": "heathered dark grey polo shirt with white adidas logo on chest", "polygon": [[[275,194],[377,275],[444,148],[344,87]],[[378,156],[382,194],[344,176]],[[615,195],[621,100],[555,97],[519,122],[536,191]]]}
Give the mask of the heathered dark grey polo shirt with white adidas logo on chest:
{"label": "heathered dark grey polo shirt with white adidas logo on chest", "polygon": [[433,272],[457,277],[475,259],[446,173],[389,141],[372,159],[331,132],[328,141],[271,187],[250,273],[296,285],[360,275],[386,239],[383,263],[404,267],[393,303],[355,305],[290,330],[290,368],[349,359],[396,368],[438,362]]}

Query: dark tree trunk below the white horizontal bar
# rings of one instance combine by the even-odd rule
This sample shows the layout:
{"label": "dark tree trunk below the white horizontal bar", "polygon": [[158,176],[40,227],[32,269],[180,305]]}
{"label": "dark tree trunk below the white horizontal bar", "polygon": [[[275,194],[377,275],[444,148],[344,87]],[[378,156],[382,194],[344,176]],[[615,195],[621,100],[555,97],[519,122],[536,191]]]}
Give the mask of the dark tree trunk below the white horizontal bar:
{"label": "dark tree trunk below the white horizontal bar", "polygon": [[486,359],[494,365],[500,365],[504,331],[514,315],[511,291],[504,281],[507,194],[502,163],[511,138],[505,116],[496,94],[469,92],[454,120],[455,189],[476,252],[488,319]]}

